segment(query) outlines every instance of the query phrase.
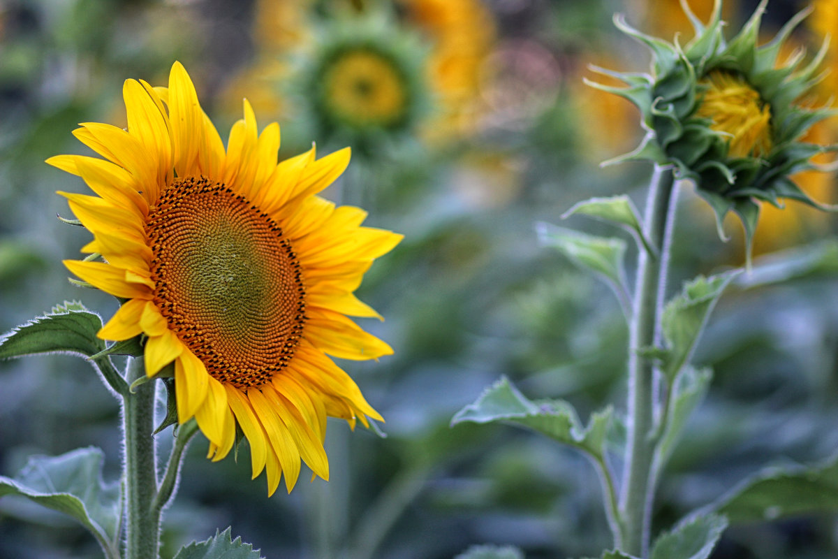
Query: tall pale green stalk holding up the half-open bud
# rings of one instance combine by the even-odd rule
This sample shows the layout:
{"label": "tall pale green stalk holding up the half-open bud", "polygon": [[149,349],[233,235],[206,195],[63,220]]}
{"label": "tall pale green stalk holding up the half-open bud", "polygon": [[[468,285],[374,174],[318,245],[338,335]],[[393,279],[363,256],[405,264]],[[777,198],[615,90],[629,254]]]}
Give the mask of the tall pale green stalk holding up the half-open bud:
{"label": "tall pale green stalk holding up the half-open bud", "polygon": [[649,185],[644,233],[659,249],[655,258],[640,251],[634,292],[634,313],[629,323],[629,443],[620,494],[623,551],[645,557],[654,487],[651,484],[654,459],[655,380],[653,360],[639,349],[652,347],[660,331],[660,310],[666,284],[669,241],[675,219],[672,201],[672,168],[656,166]]}

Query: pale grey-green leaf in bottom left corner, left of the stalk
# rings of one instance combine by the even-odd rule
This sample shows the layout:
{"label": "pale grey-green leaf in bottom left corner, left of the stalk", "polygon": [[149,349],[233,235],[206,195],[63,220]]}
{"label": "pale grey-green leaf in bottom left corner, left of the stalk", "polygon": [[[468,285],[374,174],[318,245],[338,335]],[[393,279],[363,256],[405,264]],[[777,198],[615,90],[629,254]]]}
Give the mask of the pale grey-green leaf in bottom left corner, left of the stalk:
{"label": "pale grey-green leaf in bottom left corner, left of the stalk", "polygon": [[102,451],[93,447],[31,457],[14,478],[0,476],[0,498],[18,495],[70,515],[96,536],[106,556],[118,556],[119,484],[102,481],[103,459]]}

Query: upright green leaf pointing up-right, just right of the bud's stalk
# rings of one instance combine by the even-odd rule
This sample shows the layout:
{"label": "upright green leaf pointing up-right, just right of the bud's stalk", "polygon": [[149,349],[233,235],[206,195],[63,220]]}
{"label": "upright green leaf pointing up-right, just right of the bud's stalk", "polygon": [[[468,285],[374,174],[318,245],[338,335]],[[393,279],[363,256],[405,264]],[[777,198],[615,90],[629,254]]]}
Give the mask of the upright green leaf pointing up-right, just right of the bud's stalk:
{"label": "upright green leaf pointing up-right, just right of the bud's stalk", "polygon": [[738,273],[736,271],[711,277],[696,277],[684,284],[684,290],[680,295],[666,303],[661,327],[669,347],[661,370],[670,382],[690,359],[692,349],[713,306],[721,297],[727,283]]}

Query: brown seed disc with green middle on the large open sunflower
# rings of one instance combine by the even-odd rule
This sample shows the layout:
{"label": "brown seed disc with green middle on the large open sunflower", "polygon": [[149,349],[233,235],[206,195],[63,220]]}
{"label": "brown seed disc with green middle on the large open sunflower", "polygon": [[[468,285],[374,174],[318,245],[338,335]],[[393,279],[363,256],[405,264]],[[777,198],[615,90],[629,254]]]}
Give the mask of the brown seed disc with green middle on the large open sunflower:
{"label": "brown seed disc with green middle on the large open sunflower", "polygon": [[210,375],[238,388],[282,370],[305,323],[305,288],[291,243],[240,194],[176,179],[153,205],[154,302]]}

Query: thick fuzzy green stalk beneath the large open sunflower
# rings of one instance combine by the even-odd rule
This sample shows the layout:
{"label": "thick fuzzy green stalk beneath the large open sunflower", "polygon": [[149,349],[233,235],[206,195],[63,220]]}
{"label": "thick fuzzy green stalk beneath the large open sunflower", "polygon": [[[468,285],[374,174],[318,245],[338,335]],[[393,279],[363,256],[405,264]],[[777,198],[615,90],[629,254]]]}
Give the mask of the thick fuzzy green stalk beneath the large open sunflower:
{"label": "thick fuzzy green stalk beneath the large open sunflower", "polygon": [[[142,357],[128,362],[127,382],[146,375]],[[122,399],[122,427],[125,436],[123,481],[126,499],[126,559],[156,559],[160,541],[159,516],[152,504],[158,493],[157,456],[154,432],[154,389],[146,382]]]}

